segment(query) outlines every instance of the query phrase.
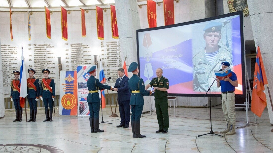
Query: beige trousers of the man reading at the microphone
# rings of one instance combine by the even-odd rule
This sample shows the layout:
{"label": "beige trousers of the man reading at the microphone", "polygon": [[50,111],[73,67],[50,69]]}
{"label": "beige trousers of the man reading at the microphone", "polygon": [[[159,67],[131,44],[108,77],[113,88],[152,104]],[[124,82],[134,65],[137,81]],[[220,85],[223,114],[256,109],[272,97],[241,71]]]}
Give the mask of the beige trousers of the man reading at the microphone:
{"label": "beige trousers of the man reading at the microphone", "polygon": [[235,124],[235,93],[221,93],[222,108],[227,124]]}

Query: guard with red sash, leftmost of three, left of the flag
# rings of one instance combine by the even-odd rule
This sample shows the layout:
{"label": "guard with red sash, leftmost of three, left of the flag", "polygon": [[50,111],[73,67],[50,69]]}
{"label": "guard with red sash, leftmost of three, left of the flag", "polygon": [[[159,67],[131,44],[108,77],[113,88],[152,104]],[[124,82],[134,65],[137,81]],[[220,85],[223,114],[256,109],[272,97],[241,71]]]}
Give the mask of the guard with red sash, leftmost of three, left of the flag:
{"label": "guard with red sash, leftmost of three, left of the flag", "polygon": [[14,74],[14,80],[10,82],[11,85],[11,90],[10,90],[10,100],[14,103],[15,107],[15,114],[16,114],[16,119],[13,122],[22,121],[22,108],[20,106],[20,79],[19,71],[13,71]]}

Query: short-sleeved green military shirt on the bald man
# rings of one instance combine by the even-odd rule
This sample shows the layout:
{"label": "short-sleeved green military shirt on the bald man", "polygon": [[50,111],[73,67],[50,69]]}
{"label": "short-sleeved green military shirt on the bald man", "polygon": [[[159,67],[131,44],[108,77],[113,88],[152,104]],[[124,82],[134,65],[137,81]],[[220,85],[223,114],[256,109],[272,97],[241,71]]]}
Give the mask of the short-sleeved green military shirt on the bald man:
{"label": "short-sleeved green military shirt on the bald man", "polygon": [[[152,81],[149,83],[152,87],[158,87],[158,88],[167,88],[169,89],[169,80],[163,75],[158,81],[158,78],[155,77],[152,79]],[[168,97],[168,91],[160,91],[160,90],[154,90],[155,91],[155,98],[167,98]]]}

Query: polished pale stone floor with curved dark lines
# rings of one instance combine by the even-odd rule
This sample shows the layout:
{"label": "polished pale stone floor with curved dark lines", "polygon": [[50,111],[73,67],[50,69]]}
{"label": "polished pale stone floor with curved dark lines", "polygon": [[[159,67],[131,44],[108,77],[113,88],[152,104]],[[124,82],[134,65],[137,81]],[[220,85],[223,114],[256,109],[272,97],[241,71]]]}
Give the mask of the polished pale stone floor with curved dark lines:
{"label": "polished pale stone floor with curved dark lines", "polygon": [[[87,117],[59,117],[58,109],[53,122],[42,121],[45,118],[42,109],[38,110],[36,122],[25,122],[25,116],[22,122],[12,122],[15,112],[7,110],[0,119],[0,152],[49,152],[42,147],[34,150],[33,144],[54,148],[57,152],[273,152],[273,132],[267,110],[261,118],[257,117],[258,124],[237,128],[235,135],[224,137],[213,134],[198,137],[210,131],[208,108],[168,108],[168,111],[168,133],[155,133],[158,130],[156,112],[146,113],[141,117],[140,129],[146,137],[135,139],[131,125],[125,129],[116,127],[120,118],[109,117],[110,108],[103,109],[103,120],[113,124],[100,124],[100,129],[105,130],[103,133],[91,133]],[[236,109],[236,118],[236,127],[246,124],[244,110]],[[248,119],[254,122],[251,111]],[[212,108],[214,132],[220,134],[225,126],[222,109]]]}

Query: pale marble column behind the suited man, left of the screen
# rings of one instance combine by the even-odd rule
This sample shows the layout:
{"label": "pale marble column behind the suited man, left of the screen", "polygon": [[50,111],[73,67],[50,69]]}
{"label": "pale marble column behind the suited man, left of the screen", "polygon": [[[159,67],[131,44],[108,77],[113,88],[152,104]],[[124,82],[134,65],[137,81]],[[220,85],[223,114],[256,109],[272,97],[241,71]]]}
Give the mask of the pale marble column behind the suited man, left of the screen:
{"label": "pale marble column behind the suited man, left of the screen", "polygon": [[[137,0],[115,0],[118,36],[122,60],[126,56],[127,69],[132,62],[138,62],[136,30],[140,29]],[[132,77],[132,73],[128,73]],[[151,110],[151,97],[144,96],[143,112]]]}

